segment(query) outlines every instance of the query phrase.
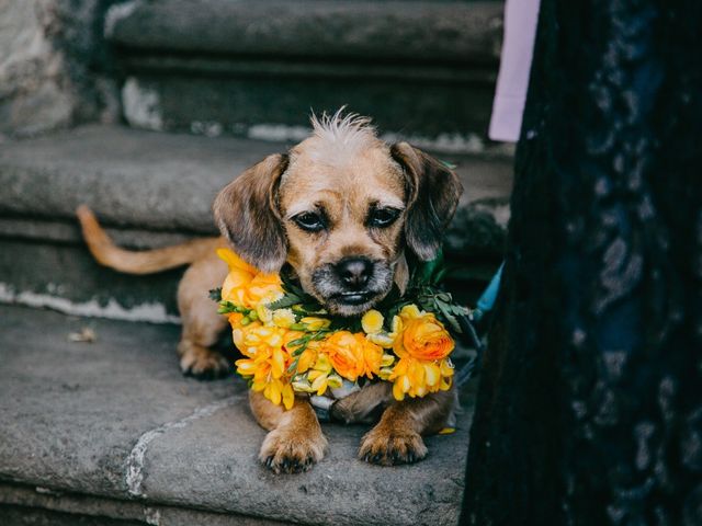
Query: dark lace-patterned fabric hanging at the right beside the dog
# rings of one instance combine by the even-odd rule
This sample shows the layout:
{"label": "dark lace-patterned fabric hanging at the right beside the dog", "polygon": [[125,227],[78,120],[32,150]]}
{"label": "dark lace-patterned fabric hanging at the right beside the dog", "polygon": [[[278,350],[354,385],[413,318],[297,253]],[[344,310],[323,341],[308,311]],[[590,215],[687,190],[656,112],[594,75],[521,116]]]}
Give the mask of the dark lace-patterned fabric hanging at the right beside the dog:
{"label": "dark lace-patterned fabric hanging at the right beside the dog", "polygon": [[542,0],[463,522],[702,525],[702,2]]}

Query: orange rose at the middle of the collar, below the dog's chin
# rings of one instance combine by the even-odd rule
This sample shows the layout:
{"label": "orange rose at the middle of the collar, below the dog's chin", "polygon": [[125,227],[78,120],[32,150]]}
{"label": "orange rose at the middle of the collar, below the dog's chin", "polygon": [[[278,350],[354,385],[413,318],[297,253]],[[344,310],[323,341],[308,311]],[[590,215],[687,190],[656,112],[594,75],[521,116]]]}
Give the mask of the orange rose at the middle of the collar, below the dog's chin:
{"label": "orange rose at the middle of the collar, below the dog's chin", "polygon": [[348,380],[355,381],[359,376],[372,378],[377,374],[383,361],[383,350],[365,339],[362,333],[352,334],[339,331],[324,341],[321,351],[329,355],[335,370]]}

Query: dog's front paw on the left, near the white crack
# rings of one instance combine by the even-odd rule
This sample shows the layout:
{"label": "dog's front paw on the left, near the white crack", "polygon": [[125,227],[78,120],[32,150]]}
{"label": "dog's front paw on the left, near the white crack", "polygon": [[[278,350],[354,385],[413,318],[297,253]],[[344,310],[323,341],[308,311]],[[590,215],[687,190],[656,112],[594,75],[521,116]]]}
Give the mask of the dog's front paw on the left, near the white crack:
{"label": "dog's front paw on the left, near the white crack", "polygon": [[290,430],[273,430],[263,441],[259,460],[275,473],[301,473],[324,458],[326,447],[321,432],[305,436]]}

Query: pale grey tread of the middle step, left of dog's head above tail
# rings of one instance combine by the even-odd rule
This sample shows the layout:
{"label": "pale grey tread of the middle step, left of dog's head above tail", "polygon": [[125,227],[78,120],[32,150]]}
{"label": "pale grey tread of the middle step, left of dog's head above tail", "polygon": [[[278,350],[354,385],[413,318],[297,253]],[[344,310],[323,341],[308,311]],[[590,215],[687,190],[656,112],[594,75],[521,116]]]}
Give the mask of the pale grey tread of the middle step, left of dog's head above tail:
{"label": "pale grey tread of the middle step, left of dog's head above tail", "polygon": [[0,215],[73,219],[87,203],[107,225],[213,233],[217,192],[280,148],[117,126],[8,142],[0,146]]}

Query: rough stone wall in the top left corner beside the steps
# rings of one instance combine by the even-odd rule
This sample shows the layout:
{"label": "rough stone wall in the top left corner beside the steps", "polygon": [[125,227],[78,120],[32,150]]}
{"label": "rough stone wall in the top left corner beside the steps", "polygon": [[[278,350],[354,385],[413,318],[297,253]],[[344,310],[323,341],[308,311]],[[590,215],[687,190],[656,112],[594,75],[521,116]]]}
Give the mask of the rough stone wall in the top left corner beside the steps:
{"label": "rough stone wall in the top left corner beside the steps", "polygon": [[0,0],[0,137],[118,115],[104,12],[115,0]]}

